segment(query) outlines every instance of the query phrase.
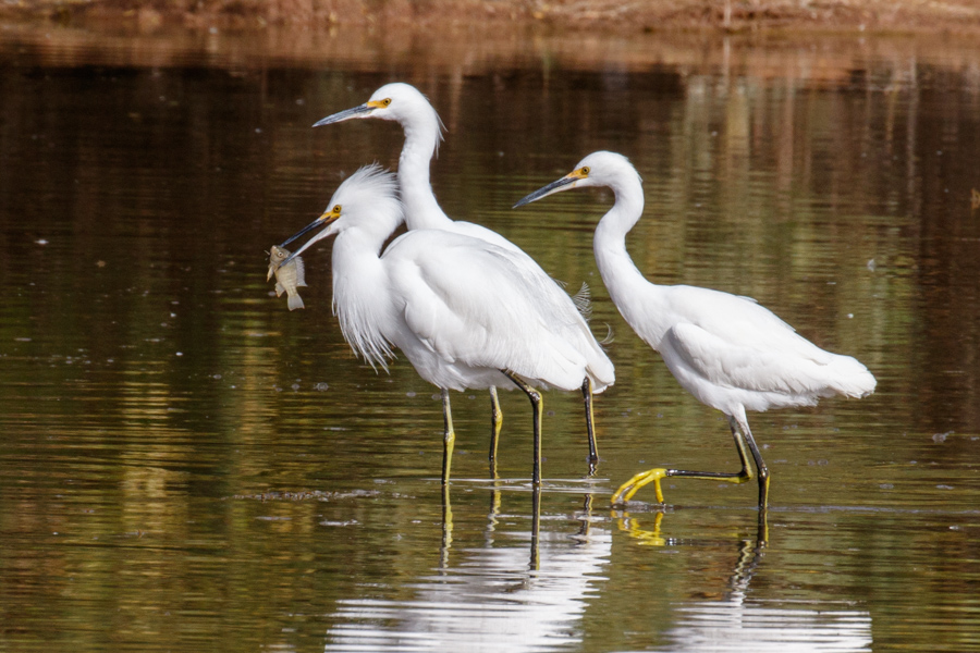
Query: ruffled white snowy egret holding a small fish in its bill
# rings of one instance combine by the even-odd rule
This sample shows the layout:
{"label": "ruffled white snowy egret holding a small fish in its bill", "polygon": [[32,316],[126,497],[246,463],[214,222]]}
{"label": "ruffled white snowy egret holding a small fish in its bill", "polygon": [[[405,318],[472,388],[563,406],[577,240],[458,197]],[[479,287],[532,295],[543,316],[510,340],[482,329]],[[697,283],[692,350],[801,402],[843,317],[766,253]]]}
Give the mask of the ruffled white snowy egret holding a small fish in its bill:
{"label": "ruffled white snowy egret holding a small fish in its bill", "polygon": [[542,403],[531,385],[577,390],[590,374],[586,356],[561,335],[568,316],[540,299],[514,251],[486,241],[416,230],[382,254],[403,211],[394,175],[378,165],[345,180],[329,206],[286,243],[326,229],[281,264],[336,236],[333,306],[344,338],[372,367],[385,370],[397,347],[442,391],[443,483],[454,442],[449,391],[513,382],[534,407],[532,480],[540,484]]}

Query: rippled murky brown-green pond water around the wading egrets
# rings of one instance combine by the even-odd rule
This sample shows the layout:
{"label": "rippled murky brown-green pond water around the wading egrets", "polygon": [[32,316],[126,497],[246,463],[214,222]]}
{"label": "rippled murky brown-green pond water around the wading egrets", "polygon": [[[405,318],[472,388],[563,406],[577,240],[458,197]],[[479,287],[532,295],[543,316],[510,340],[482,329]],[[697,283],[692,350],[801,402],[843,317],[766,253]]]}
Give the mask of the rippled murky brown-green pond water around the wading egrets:
{"label": "rippled murky brown-green pond water around the wading egrets", "polygon": [[[290,38],[0,38],[0,650],[980,650],[980,51]],[[329,247],[306,310],[270,296],[265,250],[401,147],[309,125],[393,79],[449,128],[448,212],[591,285],[617,369],[593,478],[580,399],[549,394],[536,497],[506,393],[487,480],[466,393],[444,505],[437,391],[352,356]],[[609,508],[737,460],[608,298],[609,194],[510,209],[596,149],[645,177],[651,279],[751,295],[879,379],[750,416],[764,546],[747,485]]]}

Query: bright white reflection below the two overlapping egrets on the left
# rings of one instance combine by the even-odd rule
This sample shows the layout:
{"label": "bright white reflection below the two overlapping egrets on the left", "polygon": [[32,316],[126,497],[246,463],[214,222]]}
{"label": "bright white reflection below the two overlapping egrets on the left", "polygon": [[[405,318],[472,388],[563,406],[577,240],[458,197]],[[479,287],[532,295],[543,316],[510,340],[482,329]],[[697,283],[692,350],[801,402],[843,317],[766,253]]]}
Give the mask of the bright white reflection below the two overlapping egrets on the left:
{"label": "bright white reflection below the two overlapping egrets on the left", "polygon": [[412,583],[408,599],[341,600],[324,650],[511,653],[580,644],[588,601],[608,581],[608,520],[591,514],[586,493],[577,529],[539,533],[536,497],[529,529],[501,530],[507,516],[495,492],[481,546],[448,552],[439,569]]}

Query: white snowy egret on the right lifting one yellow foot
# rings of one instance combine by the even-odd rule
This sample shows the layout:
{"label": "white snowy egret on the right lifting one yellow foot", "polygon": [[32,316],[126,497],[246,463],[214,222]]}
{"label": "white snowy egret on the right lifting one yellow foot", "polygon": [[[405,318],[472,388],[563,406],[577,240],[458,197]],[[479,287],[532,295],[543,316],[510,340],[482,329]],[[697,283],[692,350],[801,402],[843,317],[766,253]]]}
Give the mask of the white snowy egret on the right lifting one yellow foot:
{"label": "white snowy egret on the right lifting one yellow foot", "polygon": [[562,178],[531,193],[519,207],[552,193],[607,186],[615,201],[596,227],[593,250],[613,304],[637,335],[663,357],[677,382],[702,404],[728,418],[742,459],[738,473],[657,468],[636,475],[613,495],[629,501],[652,482],[663,503],[664,477],[744,483],[754,478],[746,446],[759,478],[759,508],[769,502],[769,470],[749,430],[746,410],[812,406],[820,397],[863,397],[874,377],[850,356],[831,354],[748,297],[687,285],[647,281],[626,251],[626,234],[644,212],[639,174],[623,156],[593,152]]}

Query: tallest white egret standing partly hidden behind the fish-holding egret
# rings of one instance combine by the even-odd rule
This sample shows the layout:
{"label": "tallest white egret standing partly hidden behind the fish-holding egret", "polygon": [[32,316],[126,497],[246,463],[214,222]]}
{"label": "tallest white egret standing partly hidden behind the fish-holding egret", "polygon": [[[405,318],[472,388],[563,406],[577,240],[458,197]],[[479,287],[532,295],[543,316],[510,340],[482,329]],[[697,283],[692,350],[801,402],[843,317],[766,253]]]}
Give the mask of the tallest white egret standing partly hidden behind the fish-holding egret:
{"label": "tallest white egret standing partly hidden behind the fish-holding egret", "polygon": [[[440,208],[429,182],[429,165],[438,153],[442,140],[442,121],[436,109],[414,86],[395,82],[376,90],[364,104],[329,115],[315,127],[352,119],[376,118],[397,122],[405,133],[405,144],[399,158],[399,189],[405,206],[405,224],[409,230],[438,229],[486,241],[514,254],[512,264],[517,266],[534,288],[538,301],[547,303],[556,312],[558,334],[576,347],[587,359],[588,374],[583,379],[581,394],[586,409],[586,430],[589,439],[589,464],[595,469],[599,460],[592,420],[592,393],[600,393],[615,381],[613,364],[596,342],[588,322],[579,315],[576,300],[572,299],[532,258],[516,245],[479,224],[453,221]],[[587,303],[586,298],[576,299]],[[474,387],[469,385],[469,387]],[[497,458],[497,442],[503,417],[497,389],[490,387],[491,432],[490,461]]]}

